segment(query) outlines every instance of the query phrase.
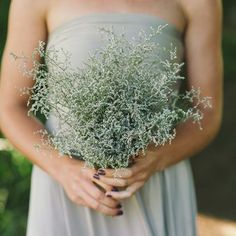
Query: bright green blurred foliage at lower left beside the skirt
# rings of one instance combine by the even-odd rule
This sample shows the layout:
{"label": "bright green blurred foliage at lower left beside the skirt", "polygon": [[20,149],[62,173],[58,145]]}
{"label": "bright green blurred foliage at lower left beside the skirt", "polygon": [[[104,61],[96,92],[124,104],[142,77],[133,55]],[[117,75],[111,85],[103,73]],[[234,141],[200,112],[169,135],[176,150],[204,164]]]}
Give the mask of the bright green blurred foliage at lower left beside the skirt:
{"label": "bright green blurred foliage at lower left beside the skirt", "polygon": [[30,173],[31,164],[0,139],[0,235],[25,235]]}

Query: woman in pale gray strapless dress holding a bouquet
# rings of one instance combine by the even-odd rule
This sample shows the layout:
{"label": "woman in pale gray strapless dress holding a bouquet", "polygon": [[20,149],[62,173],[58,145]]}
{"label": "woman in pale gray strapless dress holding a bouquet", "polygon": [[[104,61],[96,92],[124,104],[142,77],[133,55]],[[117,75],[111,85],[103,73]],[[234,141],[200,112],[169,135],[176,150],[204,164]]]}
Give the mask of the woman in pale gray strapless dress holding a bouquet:
{"label": "woman in pale gray strapless dress holding a bouquet", "polygon": [[[196,235],[196,200],[189,158],[217,134],[222,116],[221,3],[197,0],[13,0],[0,87],[0,124],[6,137],[34,164],[28,236]],[[38,41],[70,50],[73,63],[96,45],[94,25],[168,23],[160,40],[175,42],[187,65],[188,86],[212,97],[200,131],[191,121],[177,127],[171,145],[150,145],[131,168],[83,168],[83,162],[58,158],[52,150],[37,152],[44,128],[27,116],[28,97],[15,88],[32,86],[11,63],[9,54],[30,56]],[[88,39],[92,43],[87,43]],[[91,48],[90,48],[91,49]],[[184,49],[184,50],[183,50]],[[55,128],[54,120],[47,123]],[[93,182],[106,189],[102,192]],[[124,187],[116,191],[117,187]],[[122,204],[122,205],[121,205]],[[115,216],[115,217],[111,217]]]}

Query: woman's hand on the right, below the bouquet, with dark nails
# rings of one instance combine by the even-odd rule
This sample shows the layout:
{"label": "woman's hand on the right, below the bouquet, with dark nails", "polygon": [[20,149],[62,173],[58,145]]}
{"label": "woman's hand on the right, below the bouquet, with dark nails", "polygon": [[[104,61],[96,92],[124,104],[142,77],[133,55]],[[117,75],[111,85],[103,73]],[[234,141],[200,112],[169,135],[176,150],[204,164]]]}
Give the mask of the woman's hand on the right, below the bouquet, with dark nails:
{"label": "woman's hand on the right, below the bouquet, with dark nails", "polygon": [[123,189],[120,191],[115,188],[108,190],[106,196],[117,200],[131,197],[157,171],[157,162],[156,152],[147,149],[145,155],[140,153],[134,159],[134,164],[130,168],[98,171],[99,179],[103,184]]}

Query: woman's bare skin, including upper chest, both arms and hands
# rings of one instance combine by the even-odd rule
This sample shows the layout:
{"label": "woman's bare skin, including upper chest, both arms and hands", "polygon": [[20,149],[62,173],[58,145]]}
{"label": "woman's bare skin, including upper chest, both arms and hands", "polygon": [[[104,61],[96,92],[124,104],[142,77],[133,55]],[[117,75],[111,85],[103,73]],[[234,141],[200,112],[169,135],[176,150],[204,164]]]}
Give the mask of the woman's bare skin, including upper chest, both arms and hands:
{"label": "woman's bare skin, including upper chest, both arms and hands", "polygon": [[[12,1],[1,70],[0,125],[12,144],[58,181],[74,203],[115,216],[120,211],[117,208],[120,199],[132,196],[156,171],[191,157],[216,136],[222,119],[223,66],[219,0],[123,0],[110,3],[109,0]],[[59,25],[99,11],[145,12],[160,16],[183,31],[188,85],[201,87],[203,96],[212,97],[213,109],[204,111],[204,131],[186,122],[177,128],[177,137],[172,145],[155,148],[150,144],[147,158],[140,154],[132,168],[118,170],[116,178],[114,171],[105,170],[105,175],[95,179],[96,171],[85,169],[82,161],[58,158],[56,151],[45,149],[39,153],[35,150],[33,146],[40,143],[40,136],[33,133],[43,125],[36,118],[27,116],[28,97],[20,96],[14,89],[32,86],[32,82],[15,68],[9,54],[24,52],[30,56],[38,40],[46,41],[48,34]],[[93,182],[106,189],[106,194]],[[122,186],[124,190],[114,192],[112,186]]]}

